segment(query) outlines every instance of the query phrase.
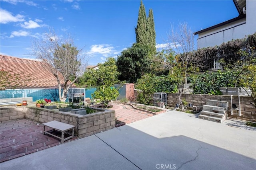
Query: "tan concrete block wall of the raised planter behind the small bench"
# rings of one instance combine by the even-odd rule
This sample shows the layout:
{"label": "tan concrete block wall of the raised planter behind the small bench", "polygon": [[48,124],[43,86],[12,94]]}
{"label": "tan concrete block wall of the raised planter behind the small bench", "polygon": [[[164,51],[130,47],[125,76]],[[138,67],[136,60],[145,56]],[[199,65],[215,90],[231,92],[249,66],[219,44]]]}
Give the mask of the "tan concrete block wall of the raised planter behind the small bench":
{"label": "tan concrete block wall of the raised planter behind the small bench", "polygon": [[30,119],[38,123],[60,121],[75,126],[75,135],[79,138],[87,137],[101,131],[112,129],[116,124],[114,110],[97,109],[100,112],[88,115],[78,115],[57,109],[45,109],[37,107],[0,108],[1,123],[13,119]]}

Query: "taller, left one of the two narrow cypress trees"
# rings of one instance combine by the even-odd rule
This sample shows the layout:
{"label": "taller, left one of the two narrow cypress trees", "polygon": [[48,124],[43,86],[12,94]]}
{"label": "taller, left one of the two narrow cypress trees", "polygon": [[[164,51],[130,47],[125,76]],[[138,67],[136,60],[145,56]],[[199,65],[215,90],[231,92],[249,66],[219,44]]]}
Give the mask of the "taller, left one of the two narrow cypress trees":
{"label": "taller, left one of the two narrow cypress trees", "polygon": [[146,17],[146,10],[145,6],[142,3],[142,0],[140,1],[140,9],[139,9],[139,15],[138,15],[138,22],[137,27],[135,28],[136,32],[136,43],[141,44],[147,44],[147,17]]}

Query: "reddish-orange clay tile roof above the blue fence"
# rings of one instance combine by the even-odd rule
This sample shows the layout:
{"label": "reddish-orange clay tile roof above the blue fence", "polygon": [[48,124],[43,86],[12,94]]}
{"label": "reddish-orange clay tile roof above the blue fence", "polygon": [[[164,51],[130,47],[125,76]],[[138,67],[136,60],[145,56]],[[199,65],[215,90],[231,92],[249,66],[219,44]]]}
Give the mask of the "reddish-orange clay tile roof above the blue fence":
{"label": "reddish-orange clay tile roof above the blue fence", "polygon": [[[21,81],[26,81],[29,77],[27,88],[48,88],[58,84],[56,77],[41,61],[0,55],[0,70],[8,71],[12,75],[19,74]],[[60,79],[64,83],[63,78]]]}

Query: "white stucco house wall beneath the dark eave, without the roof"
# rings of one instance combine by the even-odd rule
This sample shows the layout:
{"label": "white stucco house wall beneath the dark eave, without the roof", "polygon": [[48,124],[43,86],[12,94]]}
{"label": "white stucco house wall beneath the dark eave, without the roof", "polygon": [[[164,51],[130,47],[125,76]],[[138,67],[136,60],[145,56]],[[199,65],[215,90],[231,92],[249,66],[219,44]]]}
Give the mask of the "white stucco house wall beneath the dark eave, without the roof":
{"label": "white stucco house wall beneath the dark eave, without the roof", "polygon": [[256,32],[256,1],[246,0],[246,18],[199,33],[197,47],[213,47],[232,39],[241,39]]}

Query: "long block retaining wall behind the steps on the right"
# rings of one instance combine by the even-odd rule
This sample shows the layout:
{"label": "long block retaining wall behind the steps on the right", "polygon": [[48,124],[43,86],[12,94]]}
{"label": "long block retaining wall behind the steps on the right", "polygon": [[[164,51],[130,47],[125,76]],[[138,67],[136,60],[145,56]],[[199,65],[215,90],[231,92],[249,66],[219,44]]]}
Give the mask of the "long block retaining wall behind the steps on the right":
{"label": "long block retaining wall behind the steps on the right", "polygon": [[[137,96],[137,91],[135,91],[135,100],[137,100]],[[178,93],[167,93],[167,106],[175,107],[178,103],[178,96]],[[239,116],[239,111],[237,110],[234,110],[233,115],[230,115],[231,103],[229,95],[182,94],[181,98],[185,98],[186,102],[193,106],[197,106],[197,111],[202,110],[203,105],[206,104],[206,100],[208,99],[226,101],[229,102],[228,117],[256,122],[256,108],[250,104],[253,101],[249,96],[240,96],[241,116]],[[238,106],[238,96],[233,96],[232,102]]]}

